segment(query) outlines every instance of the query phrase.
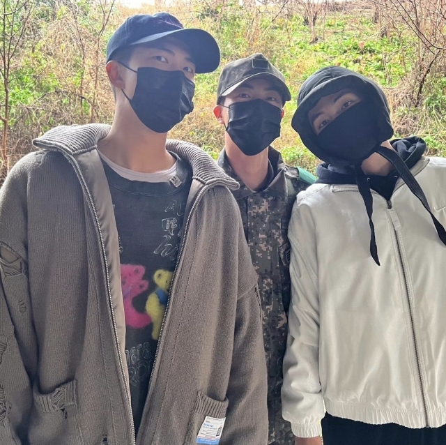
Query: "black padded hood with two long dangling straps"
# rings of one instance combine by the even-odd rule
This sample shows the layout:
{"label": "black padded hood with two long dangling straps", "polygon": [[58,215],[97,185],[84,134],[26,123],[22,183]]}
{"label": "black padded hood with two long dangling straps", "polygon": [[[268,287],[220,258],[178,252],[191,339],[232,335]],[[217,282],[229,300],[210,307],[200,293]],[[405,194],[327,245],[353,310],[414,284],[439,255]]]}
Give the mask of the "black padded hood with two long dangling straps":
{"label": "black padded hood with two long dangling straps", "polygon": [[[371,109],[370,115],[374,116],[374,120],[371,121],[370,125],[374,128],[374,135],[376,137],[376,144],[371,144],[371,146],[367,146],[366,149],[364,149],[364,147],[358,147],[357,152],[349,153],[348,156],[346,156],[345,147],[343,146],[339,146],[339,150],[337,150],[332,144],[330,151],[319,146],[318,137],[308,118],[309,111],[316,106],[321,98],[329,96],[332,93],[337,93],[337,91],[341,91],[342,89],[351,89],[363,98],[363,102],[367,102]],[[351,108],[352,111],[355,106]],[[383,142],[392,137],[393,128],[390,121],[390,109],[387,99],[385,98],[383,91],[374,84],[374,82],[371,82],[367,77],[341,66],[329,66],[316,71],[316,73],[310,76],[300,88],[298,95],[298,110],[296,110],[293,116],[291,126],[299,133],[300,139],[302,139],[302,142],[307,149],[314,153],[319,159],[334,167],[351,166],[354,168],[355,182],[362,199],[364,199],[367,215],[369,216],[371,230],[370,253],[376,264],[379,265],[380,263],[378,259],[378,248],[376,247],[374,223],[371,218],[373,213],[373,198],[367,181],[367,176],[361,169],[362,161],[369,158],[373,153],[379,153],[394,165],[401,176],[401,179],[406,182],[410,191],[420,199],[424,209],[431,215],[438,236],[443,244],[446,245],[445,228],[440,224],[437,218],[433,216],[420,184],[417,183],[415,177],[406,166],[406,163],[404,163],[396,151],[381,146]],[[328,124],[328,126],[330,126],[330,124]],[[354,130],[354,128],[351,129],[351,131]]]}

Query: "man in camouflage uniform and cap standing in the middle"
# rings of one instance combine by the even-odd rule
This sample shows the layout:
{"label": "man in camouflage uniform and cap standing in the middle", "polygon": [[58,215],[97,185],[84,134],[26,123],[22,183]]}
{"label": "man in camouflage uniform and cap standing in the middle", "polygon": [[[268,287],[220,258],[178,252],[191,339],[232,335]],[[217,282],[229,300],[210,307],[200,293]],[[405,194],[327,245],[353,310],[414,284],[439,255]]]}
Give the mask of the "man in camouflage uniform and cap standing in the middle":
{"label": "man in camouflage uniform and cap standing in the middle", "polygon": [[309,172],[285,165],[270,146],[279,136],[283,105],[290,98],[282,73],[262,54],[253,54],[223,68],[214,110],[226,128],[218,164],[240,183],[233,195],[259,274],[268,367],[268,444],[275,445],[294,444],[280,398],[291,299],[288,223],[296,195],[314,182]]}

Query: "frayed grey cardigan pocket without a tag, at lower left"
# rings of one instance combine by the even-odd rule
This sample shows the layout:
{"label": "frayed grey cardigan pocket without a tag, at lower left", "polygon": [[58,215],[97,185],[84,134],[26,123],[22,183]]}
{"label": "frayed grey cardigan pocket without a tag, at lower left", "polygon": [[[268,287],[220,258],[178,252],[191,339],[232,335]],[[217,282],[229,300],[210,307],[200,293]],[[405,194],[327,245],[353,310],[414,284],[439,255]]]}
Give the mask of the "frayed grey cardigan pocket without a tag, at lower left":
{"label": "frayed grey cardigan pocket without a tag, at lower left", "polygon": [[29,442],[33,445],[84,445],[77,412],[76,381],[42,394],[33,388]]}

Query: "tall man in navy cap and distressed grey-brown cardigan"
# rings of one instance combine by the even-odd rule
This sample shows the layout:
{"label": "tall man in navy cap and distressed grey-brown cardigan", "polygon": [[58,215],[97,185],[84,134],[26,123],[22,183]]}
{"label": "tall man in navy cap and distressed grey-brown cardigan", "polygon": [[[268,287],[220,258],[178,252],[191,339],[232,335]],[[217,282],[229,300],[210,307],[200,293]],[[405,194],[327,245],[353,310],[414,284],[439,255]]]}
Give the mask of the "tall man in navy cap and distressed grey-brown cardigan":
{"label": "tall man in navy cap and distressed grey-brown cardigan", "polygon": [[0,193],[0,443],[265,445],[238,187],[167,140],[220,52],[167,13],[107,46],[112,126],[58,127]]}

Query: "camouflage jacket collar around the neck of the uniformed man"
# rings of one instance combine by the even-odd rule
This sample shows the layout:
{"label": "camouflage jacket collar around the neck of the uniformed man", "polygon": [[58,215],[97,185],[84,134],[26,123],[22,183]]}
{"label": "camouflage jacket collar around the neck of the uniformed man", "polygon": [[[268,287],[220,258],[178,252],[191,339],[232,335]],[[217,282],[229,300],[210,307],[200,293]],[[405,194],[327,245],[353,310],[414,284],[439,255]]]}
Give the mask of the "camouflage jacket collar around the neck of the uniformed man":
{"label": "camouflage jacket collar around the neck of the uniformed man", "polygon": [[[282,155],[279,153],[279,151],[273,149],[272,146],[270,146],[268,147],[268,160],[270,169],[270,183],[266,188],[262,190],[262,193],[266,192],[270,195],[284,197],[286,196],[285,172],[287,171],[287,168],[284,160],[282,159]],[[231,167],[229,159],[226,156],[226,149],[222,149],[217,162],[218,165],[222,167],[224,172],[228,176],[231,176],[231,178],[237,181],[240,185],[240,188],[233,192],[233,195],[236,199],[243,199],[244,197],[259,193],[256,190],[251,190],[250,188],[245,186],[245,183],[243,183],[238,174],[236,174],[236,172]]]}

